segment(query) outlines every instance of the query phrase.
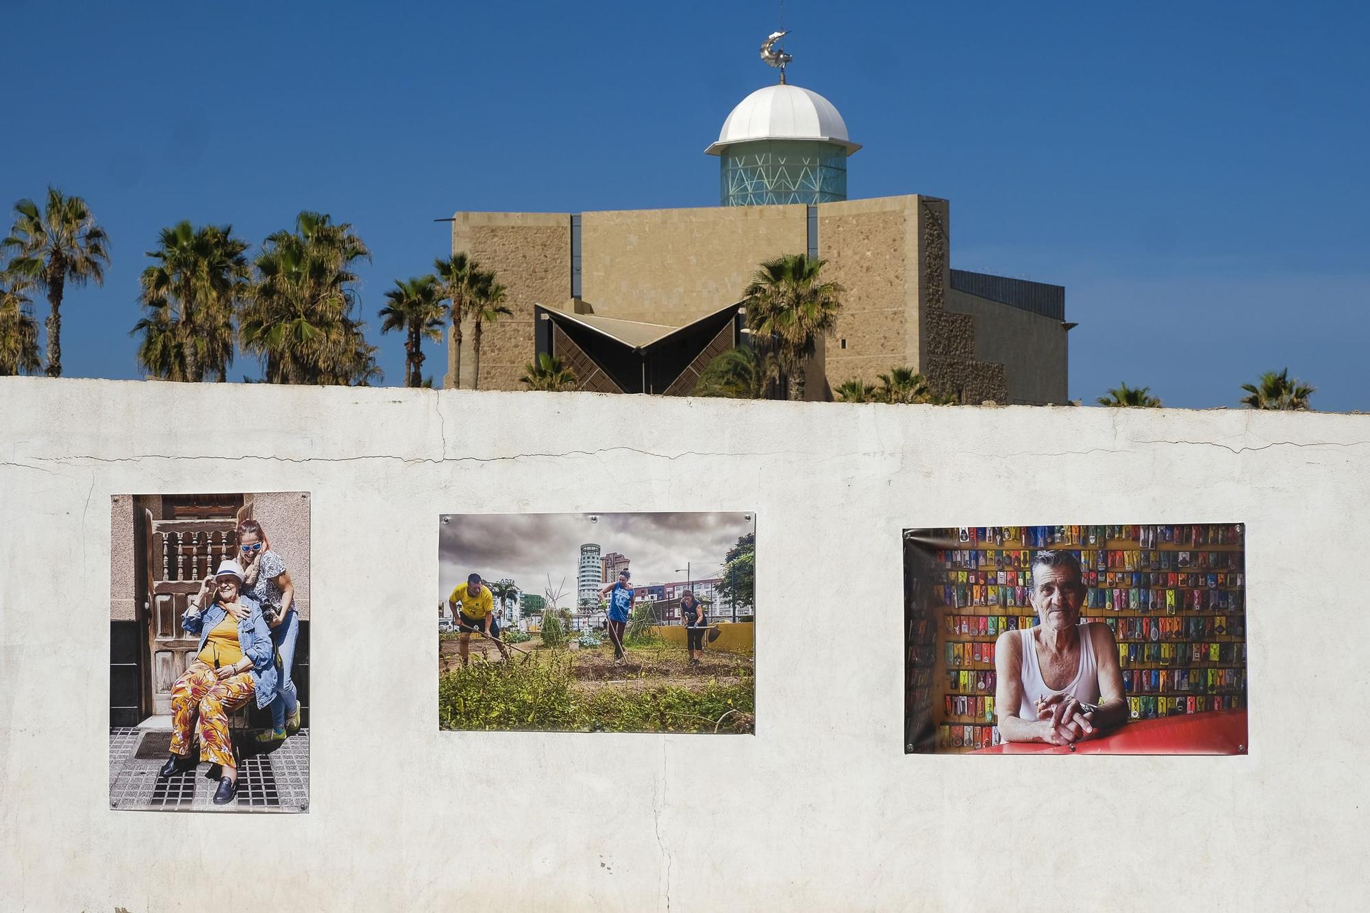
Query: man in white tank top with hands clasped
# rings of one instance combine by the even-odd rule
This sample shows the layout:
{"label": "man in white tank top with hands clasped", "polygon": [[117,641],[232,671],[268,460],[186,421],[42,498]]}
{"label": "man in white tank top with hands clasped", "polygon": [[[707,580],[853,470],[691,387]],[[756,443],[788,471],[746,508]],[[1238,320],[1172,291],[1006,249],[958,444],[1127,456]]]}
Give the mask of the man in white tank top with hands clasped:
{"label": "man in white tank top with hands clasped", "polygon": [[1080,561],[1038,552],[1032,608],[1038,624],[1004,631],[995,646],[995,708],[1004,742],[1071,745],[1128,720],[1118,643],[1101,621],[1080,623]]}

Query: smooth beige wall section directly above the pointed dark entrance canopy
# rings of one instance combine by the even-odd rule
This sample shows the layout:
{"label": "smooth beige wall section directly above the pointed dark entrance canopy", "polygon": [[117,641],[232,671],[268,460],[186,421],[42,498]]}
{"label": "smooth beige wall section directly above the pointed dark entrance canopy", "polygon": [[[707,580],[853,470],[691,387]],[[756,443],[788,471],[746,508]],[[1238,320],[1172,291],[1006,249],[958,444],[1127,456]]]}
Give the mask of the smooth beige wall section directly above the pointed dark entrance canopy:
{"label": "smooth beige wall section directly above the pointed dark entrance canopy", "polygon": [[762,260],[807,244],[803,205],[585,212],[581,297],[601,316],[684,324],[740,300]]}

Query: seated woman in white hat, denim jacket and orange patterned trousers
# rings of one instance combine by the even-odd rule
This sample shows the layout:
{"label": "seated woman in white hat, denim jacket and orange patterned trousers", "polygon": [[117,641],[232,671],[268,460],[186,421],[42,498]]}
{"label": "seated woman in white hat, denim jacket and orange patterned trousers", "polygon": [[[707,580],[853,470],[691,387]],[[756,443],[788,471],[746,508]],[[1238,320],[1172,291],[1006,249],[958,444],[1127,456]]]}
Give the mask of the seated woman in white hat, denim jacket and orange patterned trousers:
{"label": "seated woman in white hat, denim jacket and orange patterned trousers", "polygon": [[[171,757],[158,776],[173,776],[195,768],[199,761],[222,769],[215,805],[233,801],[238,790],[238,768],[229,738],[229,713],[251,698],[264,708],[275,697],[275,647],[271,628],[262,617],[256,600],[242,595],[242,569],[225,560],[219,571],[200,584],[181,620],[190,634],[200,635],[200,652],[171,687]],[[212,601],[211,601],[212,597]],[[195,720],[200,719],[200,754],[190,756]]]}

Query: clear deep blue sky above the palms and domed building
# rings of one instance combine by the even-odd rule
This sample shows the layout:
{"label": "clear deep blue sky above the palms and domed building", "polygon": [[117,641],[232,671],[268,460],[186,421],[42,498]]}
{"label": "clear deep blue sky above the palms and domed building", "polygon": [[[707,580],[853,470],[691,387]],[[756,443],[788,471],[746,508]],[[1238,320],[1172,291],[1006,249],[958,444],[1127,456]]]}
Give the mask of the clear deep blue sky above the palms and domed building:
{"label": "clear deep blue sky above the palms and domed building", "polygon": [[[1288,365],[1315,407],[1370,409],[1370,12],[1114,5],[789,0],[790,82],[864,144],[851,197],[947,197],[952,266],[1066,286],[1071,397],[1126,381],[1236,405]],[[434,218],[717,205],[703,149],[773,81],[756,47],[780,19],[717,0],[0,12],[0,204],[55,183],[112,238],[105,285],[64,301],[66,374],[138,376],[127,331],[162,226],[258,244],[308,208],[374,253],[386,383],[403,341],[375,311],[448,249]]]}

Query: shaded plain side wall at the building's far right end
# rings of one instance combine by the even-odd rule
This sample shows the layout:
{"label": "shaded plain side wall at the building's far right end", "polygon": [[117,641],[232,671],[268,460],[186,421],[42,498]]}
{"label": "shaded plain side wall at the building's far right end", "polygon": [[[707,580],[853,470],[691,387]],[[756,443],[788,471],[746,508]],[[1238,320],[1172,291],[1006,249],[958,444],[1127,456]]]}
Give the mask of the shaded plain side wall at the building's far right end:
{"label": "shaded plain side wall at the building's far right end", "polygon": [[1060,320],[948,289],[947,308],[970,315],[978,361],[1004,365],[1008,402],[1064,405],[1069,335]]}

